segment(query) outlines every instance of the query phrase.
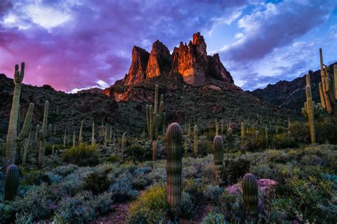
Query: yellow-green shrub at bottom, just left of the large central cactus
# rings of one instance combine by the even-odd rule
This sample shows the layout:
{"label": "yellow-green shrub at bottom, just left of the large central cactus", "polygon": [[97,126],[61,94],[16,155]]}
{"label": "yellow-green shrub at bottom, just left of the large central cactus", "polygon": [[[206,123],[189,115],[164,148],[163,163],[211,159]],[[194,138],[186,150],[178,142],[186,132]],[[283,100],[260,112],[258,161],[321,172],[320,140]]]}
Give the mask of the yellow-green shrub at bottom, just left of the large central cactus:
{"label": "yellow-green shrub at bottom, just left of the large central cactus", "polygon": [[168,208],[166,188],[156,184],[132,203],[129,208],[129,223],[164,223]]}

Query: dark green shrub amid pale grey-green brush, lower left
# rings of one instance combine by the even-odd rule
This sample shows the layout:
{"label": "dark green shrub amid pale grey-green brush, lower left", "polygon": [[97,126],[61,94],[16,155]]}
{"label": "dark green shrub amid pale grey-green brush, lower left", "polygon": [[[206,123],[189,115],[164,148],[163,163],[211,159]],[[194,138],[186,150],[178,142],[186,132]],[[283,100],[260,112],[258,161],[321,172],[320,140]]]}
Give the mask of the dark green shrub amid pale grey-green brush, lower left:
{"label": "dark green shrub amid pale grey-green brush, lower left", "polygon": [[111,171],[111,169],[93,171],[91,174],[85,177],[85,190],[92,191],[94,195],[107,191],[110,184],[109,180],[107,179],[107,174],[109,174],[109,171]]}

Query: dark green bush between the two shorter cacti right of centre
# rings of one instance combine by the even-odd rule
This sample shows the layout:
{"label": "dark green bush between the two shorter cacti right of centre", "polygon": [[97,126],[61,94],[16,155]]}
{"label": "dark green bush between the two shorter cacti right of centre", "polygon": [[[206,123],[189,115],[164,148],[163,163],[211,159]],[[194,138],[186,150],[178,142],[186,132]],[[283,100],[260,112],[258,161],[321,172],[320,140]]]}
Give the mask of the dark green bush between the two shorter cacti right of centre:
{"label": "dark green bush between the two shorter cacti right of centre", "polygon": [[237,183],[250,171],[250,161],[244,158],[225,160],[225,175],[229,183]]}

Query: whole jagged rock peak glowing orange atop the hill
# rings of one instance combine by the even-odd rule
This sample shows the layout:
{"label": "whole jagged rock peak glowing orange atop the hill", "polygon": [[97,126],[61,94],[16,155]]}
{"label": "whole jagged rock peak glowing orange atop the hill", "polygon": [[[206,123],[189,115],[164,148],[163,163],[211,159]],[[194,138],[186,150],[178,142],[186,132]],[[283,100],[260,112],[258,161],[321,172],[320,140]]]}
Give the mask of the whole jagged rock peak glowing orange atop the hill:
{"label": "whole jagged rock peak glowing orange atop the hill", "polygon": [[178,48],[173,49],[172,55],[158,40],[153,43],[151,53],[134,46],[129,73],[120,83],[135,85],[143,80],[173,73],[181,75],[190,85],[203,85],[209,78],[234,83],[219,55],[207,55],[206,48],[200,33],[194,33],[188,44],[181,42]]}

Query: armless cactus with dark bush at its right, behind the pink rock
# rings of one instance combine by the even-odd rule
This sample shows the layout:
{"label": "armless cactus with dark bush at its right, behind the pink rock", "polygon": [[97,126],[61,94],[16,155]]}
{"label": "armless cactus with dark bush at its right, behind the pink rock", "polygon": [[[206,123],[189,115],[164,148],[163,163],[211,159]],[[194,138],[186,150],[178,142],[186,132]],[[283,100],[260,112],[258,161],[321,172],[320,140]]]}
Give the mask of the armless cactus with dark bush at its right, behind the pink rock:
{"label": "armless cactus with dark bush at its right, behind the pink rock", "polygon": [[222,181],[223,174],[223,137],[217,135],[213,139],[214,169],[218,181]]}

